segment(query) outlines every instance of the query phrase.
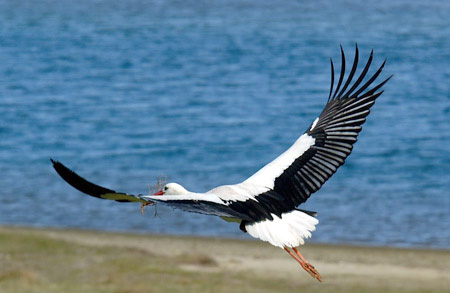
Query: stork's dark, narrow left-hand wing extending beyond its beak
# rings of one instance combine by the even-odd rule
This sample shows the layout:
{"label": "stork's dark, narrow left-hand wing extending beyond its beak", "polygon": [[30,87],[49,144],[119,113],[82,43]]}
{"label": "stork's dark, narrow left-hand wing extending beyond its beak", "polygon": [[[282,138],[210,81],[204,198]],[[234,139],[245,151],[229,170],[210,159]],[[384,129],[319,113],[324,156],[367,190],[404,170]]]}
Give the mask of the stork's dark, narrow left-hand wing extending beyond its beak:
{"label": "stork's dark, narrow left-hand wing extending beyond its beak", "polygon": [[79,191],[86,193],[90,196],[102,198],[102,199],[110,199],[119,202],[150,202],[152,201],[145,200],[141,198],[141,195],[132,195],[123,192],[116,192],[114,190],[96,185],[92,182],[87,181],[86,179],[79,176],[77,173],[73,172],[62,163],[58,161],[54,161],[50,159],[53,163],[53,168],[55,168],[56,172],[59,176],[62,177],[67,183],[72,185],[74,188]]}

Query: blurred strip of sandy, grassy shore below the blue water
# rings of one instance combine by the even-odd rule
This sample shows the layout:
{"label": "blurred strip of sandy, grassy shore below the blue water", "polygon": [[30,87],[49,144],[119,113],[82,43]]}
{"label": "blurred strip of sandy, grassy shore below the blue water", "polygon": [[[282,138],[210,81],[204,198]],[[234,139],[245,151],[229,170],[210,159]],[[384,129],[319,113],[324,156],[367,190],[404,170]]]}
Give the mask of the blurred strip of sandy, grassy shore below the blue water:
{"label": "blurred strip of sandy, grassy shore below the blue water", "polygon": [[0,292],[450,292],[450,250],[0,227]]}

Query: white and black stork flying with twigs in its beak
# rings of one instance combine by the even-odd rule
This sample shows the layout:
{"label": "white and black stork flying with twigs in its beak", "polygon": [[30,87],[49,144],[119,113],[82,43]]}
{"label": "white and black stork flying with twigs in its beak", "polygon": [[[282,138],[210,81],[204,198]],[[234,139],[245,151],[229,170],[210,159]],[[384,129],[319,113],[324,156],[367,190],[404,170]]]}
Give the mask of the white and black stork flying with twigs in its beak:
{"label": "white and black stork flying with twigs in its beak", "polygon": [[372,63],[373,50],[354,83],[352,80],[359,60],[358,46],[350,73],[345,79],[346,61],[342,46],[341,59],[336,87],[333,60],[330,59],[330,93],[319,117],[289,149],[241,183],[219,186],[205,193],[188,191],[178,183],[167,183],[153,195],[132,195],[93,184],[51,159],[53,167],[74,188],[97,198],[140,202],[142,206],[161,203],[187,212],[238,222],[243,232],[284,249],[313,278],[321,281],[319,272],[297,249],[311,237],[311,232],[319,223],[317,213],[299,209],[298,206],[306,202],[344,164],[371,107],[383,93],[382,86],[392,77],[374,85],[386,63],[384,60],[378,70],[365,79]]}

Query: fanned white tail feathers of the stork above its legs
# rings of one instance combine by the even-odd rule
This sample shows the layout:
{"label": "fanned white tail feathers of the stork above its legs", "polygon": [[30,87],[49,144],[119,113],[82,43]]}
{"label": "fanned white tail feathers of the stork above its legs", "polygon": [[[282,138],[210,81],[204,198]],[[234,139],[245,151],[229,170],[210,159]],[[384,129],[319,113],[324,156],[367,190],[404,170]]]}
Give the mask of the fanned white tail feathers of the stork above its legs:
{"label": "fanned white tail feathers of the stork above its legs", "polygon": [[319,223],[316,218],[297,210],[284,213],[281,218],[274,214],[272,217],[273,220],[247,224],[245,229],[251,236],[281,248],[303,245]]}

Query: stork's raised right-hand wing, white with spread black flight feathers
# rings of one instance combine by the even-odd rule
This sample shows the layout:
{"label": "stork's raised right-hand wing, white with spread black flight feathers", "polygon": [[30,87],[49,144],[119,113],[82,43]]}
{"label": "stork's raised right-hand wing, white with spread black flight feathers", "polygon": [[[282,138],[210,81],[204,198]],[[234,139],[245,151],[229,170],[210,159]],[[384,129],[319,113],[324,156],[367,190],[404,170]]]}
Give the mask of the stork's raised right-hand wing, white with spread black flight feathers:
{"label": "stork's raised right-hand wing, white with spread black flight feathers", "polygon": [[[358,47],[356,46],[353,66],[345,82],[345,54],[342,46],[341,54],[341,73],[334,91],[334,65],[331,60],[330,94],[320,116],[287,151],[244,181],[244,184],[248,182],[265,186],[282,195],[283,209],[293,209],[305,202],[344,164],[370,108],[383,93],[378,90],[392,77],[367,90],[380,75],[386,62],[385,60],[373,76],[362,83],[372,63],[372,51],[360,76],[350,86],[358,66]],[[262,193],[255,198],[259,200],[265,196]]]}

